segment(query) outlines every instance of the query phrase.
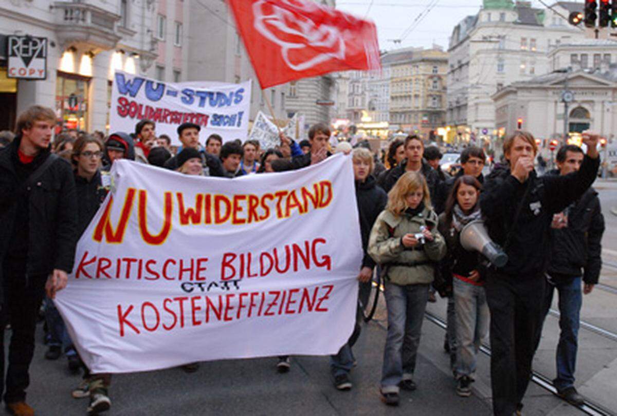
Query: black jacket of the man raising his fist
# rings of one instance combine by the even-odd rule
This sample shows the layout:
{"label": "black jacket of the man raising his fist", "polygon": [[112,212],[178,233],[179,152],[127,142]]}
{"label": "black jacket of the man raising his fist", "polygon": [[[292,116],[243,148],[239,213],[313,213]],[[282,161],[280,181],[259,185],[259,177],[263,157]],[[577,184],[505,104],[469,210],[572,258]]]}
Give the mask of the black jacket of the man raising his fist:
{"label": "black jacket of the man raising his fist", "polygon": [[[502,246],[508,263],[499,269],[516,279],[529,279],[546,271],[553,214],[581,197],[594,183],[600,159],[585,156],[578,172],[565,176],[536,176],[521,184],[509,168],[495,168],[484,183],[480,208],[491,239]],[[521,207],[515,220],[516,211]],[[509,241],[508,232],[511,232]]]}

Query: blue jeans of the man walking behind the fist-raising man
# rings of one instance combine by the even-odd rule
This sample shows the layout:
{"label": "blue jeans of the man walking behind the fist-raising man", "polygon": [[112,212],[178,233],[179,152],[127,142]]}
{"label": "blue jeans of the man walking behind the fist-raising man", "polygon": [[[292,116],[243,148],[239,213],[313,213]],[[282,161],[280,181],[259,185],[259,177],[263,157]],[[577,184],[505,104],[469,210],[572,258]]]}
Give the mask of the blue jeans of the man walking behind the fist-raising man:
{"label": "blue jeans of the man walking behind the fist-raising man", "polygon": [[549,279],[544,296],[544,316],[553,302],[553,288],[559,293],[559,343],[557,344],[557,378],[555,388],[563,390],[574,385],[576,352],[578,351],[579,312],[581,312],[581,277],[571,280]]}

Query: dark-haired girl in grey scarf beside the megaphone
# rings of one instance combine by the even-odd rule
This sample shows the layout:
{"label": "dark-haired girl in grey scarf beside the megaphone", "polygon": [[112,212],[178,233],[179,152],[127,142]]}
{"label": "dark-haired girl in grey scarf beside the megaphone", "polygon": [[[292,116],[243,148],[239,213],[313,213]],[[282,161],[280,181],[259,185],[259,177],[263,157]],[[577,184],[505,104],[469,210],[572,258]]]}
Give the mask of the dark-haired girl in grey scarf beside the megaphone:
{"label": "dark-haired girl in grey scarf beside the megaphone", "polygon": [[444,236],[447,255],[441,261],[441,276],[451,287],[456,312],[457,349],[452,362],[457,379],[457,394],[471,395],[476,356],[489,329],[489,307],[484,293],[486,266],[479,253],[466,251],[460,243],[460,232],[466,224],[481,219],[478,179],[465,175],[452,187],[439,216],[439,232]]}

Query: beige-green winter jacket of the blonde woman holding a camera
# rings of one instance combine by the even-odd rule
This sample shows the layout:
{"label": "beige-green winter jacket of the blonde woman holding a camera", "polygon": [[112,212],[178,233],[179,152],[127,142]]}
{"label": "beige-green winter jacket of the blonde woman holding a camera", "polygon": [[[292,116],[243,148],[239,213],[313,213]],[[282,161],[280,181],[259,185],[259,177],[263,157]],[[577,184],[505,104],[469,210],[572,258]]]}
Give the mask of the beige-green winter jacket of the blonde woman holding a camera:
{"label": "beige-green winter jacket of the blonde woman holding a camera", "polygon": [[[433,241],[415,248],[405,248],[402,237],[416,234],[426,226]],[[434,263],[445,256],[445,241],[437,231],[437,214],[424,208],[416,216],[404,213],[395,216],[382,211],[377,217],[368,240],[368,254],[382,267],[387,267],[386,281],[397,285],[433,282]]]}

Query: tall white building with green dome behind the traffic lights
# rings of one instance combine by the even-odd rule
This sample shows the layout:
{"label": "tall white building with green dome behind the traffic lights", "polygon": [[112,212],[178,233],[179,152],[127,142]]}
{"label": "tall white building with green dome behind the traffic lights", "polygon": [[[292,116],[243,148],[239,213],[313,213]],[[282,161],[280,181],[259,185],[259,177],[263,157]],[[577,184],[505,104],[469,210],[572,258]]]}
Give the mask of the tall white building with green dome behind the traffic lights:
{"label": "tall white building with green dome behind the traffic lights", "polygon": [[531,2],[484,0],[480,12],[453,29],[447,74],[447,122],[463,139],[495,131],[491,96],[508,84],[550,70],[552,47],[584,39],[581,28],[561,16],[582,3],[557,2],[549,9]]}

